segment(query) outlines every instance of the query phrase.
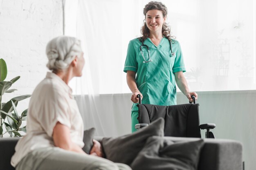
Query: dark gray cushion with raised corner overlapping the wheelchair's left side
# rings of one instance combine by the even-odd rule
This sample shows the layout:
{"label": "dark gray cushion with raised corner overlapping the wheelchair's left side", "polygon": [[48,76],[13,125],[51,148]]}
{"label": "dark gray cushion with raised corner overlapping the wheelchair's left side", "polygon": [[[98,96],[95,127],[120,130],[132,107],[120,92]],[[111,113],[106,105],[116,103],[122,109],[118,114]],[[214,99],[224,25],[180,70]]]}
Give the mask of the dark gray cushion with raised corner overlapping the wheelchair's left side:
{"label": "dark gray cushion with raised corner overlapping the wheelchair's left side", "polygon": [[105,137],[101,144],[107,159],[130,166],[139,151],[144,147],[148,137],[163,135],[164,119],[159,118],[135,133],[116,138]]}

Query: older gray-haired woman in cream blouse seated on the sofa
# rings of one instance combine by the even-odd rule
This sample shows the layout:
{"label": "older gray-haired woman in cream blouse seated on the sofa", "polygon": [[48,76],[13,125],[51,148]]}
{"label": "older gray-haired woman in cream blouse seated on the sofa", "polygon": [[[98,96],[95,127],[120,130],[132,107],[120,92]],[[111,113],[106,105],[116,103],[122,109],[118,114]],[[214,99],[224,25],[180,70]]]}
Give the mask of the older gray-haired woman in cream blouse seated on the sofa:
{"label": "older gray-haired woman in cream blouse seated on the sofa", "polygon": [[82,148],[83,121],[68,82],[82,75],[80,41],[61,36],[46,47],[47,72],[34,90],[28,109],[27,135],[16,145],[11,165],[16,170],[130,170],[130,167],[101,158],[94,140],[91,155]]}

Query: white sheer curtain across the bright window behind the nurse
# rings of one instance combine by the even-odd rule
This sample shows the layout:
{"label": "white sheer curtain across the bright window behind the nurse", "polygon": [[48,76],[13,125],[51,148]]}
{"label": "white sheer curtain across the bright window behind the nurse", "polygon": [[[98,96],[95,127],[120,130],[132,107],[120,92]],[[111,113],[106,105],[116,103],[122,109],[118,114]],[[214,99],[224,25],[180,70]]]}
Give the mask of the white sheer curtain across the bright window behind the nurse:
{"label": "white sheer curtain across the bright window behind the nurse", "polygon": [[[123,67],[129,41],[140,36],[148,2],[65,0],[65,35],[81,39],[85,55],[83,76],[70,86],[85,128],[97,127],[98,135],[130,132],[132,103]],[[191,91],[256,89],[254,0],[161,2],[181,44]]]}

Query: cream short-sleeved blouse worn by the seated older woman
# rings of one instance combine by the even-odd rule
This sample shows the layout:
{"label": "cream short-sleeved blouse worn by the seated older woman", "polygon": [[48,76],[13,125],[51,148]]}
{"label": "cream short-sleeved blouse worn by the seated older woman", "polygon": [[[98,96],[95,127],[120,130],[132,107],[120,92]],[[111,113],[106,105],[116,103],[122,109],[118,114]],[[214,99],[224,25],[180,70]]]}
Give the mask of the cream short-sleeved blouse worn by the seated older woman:
{"label": "cream short-sleeved blouse worn by the seated older woman", "polygon": [[47,72],[30,98],[27,135],[18,141],[11,165],[15,167],[32,150],[54,147],[52,133],[57,122],[67,126],[72,142],[83,148],[83,120],[72,89],[59,76]]}

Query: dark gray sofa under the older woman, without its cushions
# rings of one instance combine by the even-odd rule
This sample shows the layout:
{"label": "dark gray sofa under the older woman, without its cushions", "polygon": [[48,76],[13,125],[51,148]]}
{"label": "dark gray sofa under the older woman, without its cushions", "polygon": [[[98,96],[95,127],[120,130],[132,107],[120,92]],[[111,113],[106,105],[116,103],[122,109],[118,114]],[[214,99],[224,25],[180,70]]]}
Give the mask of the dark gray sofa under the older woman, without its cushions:
{"label": "dark gray sofa under the older woman, without its cushions", "polygon": [[[198,138],[164,137],[173,142],[195,141]],[[101,138],[96,137],[100,140]],[[0,138],[0,170],[14,170],[11,156],[18,138]],[[242,144],[228,139],[205,139],[198,170],[242,170]],[[75,167],[74,167],[75,170]]]}

